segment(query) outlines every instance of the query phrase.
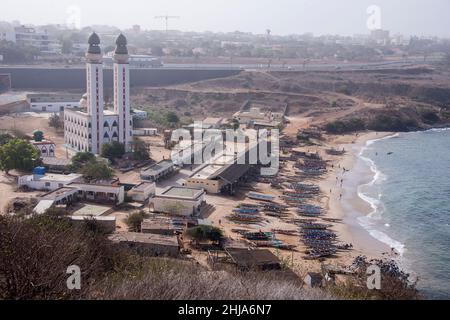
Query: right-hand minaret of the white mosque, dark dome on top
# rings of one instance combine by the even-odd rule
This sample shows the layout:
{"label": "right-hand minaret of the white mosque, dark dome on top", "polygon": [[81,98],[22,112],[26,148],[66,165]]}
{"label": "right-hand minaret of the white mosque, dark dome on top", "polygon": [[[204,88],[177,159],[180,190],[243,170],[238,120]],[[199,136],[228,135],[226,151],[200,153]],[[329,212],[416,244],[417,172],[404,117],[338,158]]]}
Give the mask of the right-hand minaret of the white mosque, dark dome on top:
{"label": "right-hand minaret of the white mosque, dark dome on top", "polygon": [[131,151],[133,124],[130,110],[130,70],[127,39],[120,34],[114,51],[114,112],[119,115],[119,142]]}

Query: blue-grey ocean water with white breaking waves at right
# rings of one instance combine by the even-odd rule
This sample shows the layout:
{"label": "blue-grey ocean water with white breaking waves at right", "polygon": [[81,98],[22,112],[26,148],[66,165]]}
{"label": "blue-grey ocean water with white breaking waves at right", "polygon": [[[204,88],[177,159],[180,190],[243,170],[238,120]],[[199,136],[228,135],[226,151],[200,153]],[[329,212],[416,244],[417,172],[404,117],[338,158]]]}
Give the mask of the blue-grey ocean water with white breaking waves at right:
{"label": "blue-grey ocean water with white breaking waves at right", "polygon": [[368,141],[359,157],[373,172],[358,187],[372,208],[359,224],[394,248],[426,297],[450,299],[450,130]]}

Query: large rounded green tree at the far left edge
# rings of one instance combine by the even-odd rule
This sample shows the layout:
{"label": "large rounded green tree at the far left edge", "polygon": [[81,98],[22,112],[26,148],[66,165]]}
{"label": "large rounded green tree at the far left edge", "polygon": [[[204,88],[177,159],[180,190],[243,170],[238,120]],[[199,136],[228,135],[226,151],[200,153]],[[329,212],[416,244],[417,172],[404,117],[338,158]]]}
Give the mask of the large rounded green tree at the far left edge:
{"label": "large rounded green tree at the far left edge", "polygon": [[8,173],[10,170],[31,171],[39,165],[40,152],[28,141],[12,139],[0,147],[0,169]]}

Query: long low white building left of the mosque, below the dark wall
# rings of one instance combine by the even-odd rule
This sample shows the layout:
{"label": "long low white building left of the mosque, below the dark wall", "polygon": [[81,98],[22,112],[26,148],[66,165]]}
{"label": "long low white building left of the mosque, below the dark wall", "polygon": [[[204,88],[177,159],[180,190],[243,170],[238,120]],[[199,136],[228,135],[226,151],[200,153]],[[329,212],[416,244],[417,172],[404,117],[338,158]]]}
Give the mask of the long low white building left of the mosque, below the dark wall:
{"label": "long low white building left of the mosque, below the dark wall", "polygon": [[81,95],[33,93],[27,95],[31,111],[60,112],[66,108],[79,108]]}

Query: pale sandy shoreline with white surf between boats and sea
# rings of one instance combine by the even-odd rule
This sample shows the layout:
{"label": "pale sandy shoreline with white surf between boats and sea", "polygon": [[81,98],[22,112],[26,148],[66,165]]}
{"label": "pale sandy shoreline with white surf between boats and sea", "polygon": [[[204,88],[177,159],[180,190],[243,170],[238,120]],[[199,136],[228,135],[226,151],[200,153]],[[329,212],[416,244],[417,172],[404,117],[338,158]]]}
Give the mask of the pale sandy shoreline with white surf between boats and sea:
{"label": "pale sandy shoreline with white surf between boats and sea", "polygon": [[[375,208],[361,197],[359,189],[376,179],[376,173],[367,163],[361,165],[361,152],[369,141],[386,139],[393,135],[393,132],[366,132],[358,136],[339,136],[335,141],[330,141],[330,146],[339,150],[344,148],[347,152],[343,156],[330,159],[333,168],[319,185],[322,190],[328,191],[327,217],[342,219],[342,223],[336,224],[334,229],[342,242],[353,245],[352,259],[360,255],[370,259],[386,258],[387,255],[392,257],[392,248],[361,225],[359,219],[370,215]],[[346,263],[350,262],[347,260],[345,258]]]}

